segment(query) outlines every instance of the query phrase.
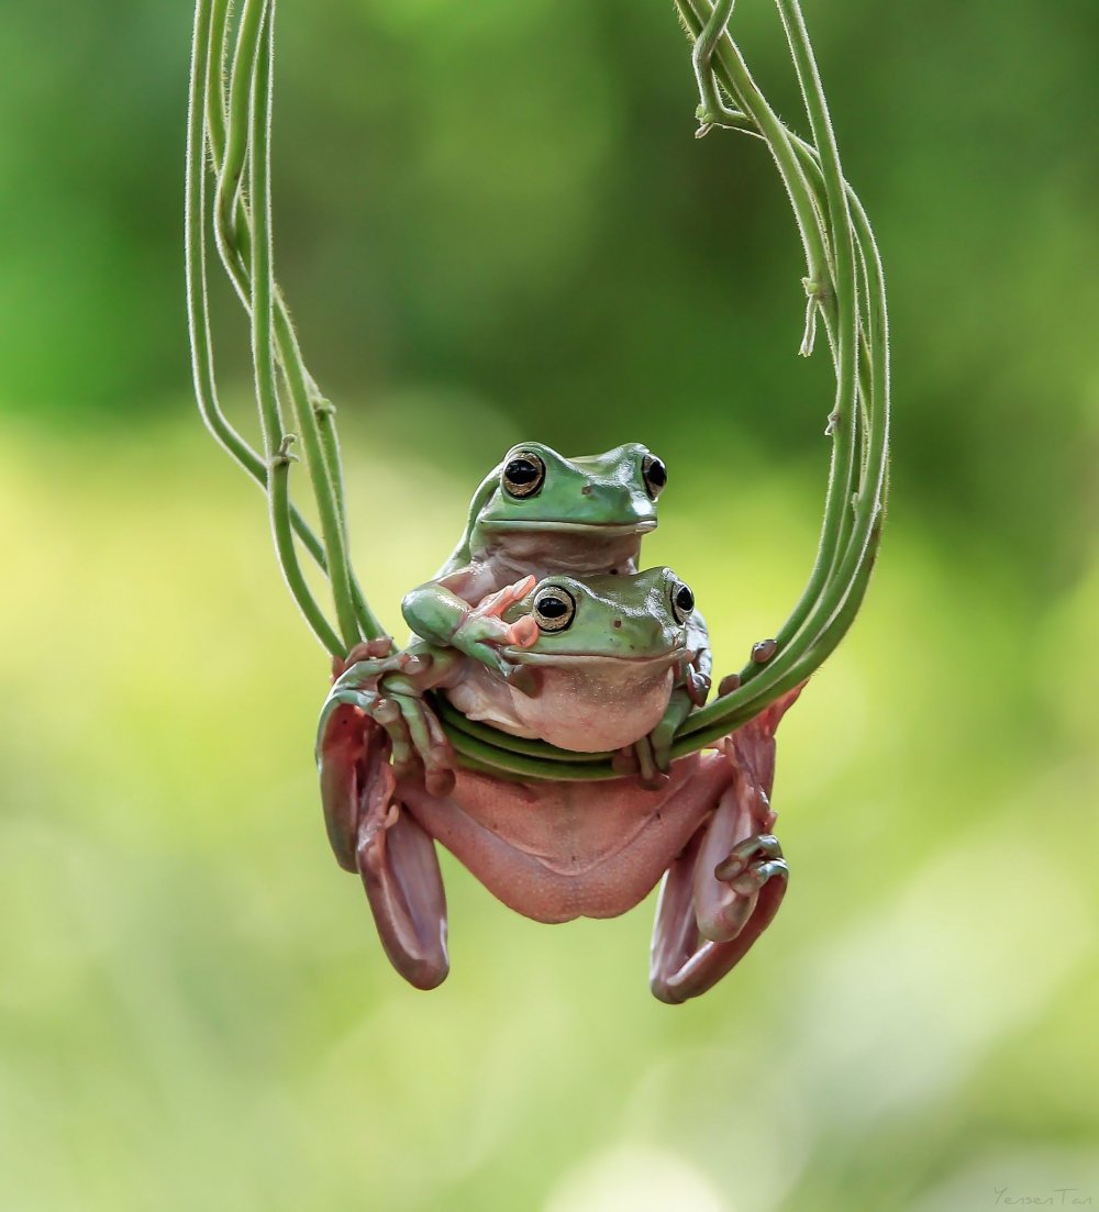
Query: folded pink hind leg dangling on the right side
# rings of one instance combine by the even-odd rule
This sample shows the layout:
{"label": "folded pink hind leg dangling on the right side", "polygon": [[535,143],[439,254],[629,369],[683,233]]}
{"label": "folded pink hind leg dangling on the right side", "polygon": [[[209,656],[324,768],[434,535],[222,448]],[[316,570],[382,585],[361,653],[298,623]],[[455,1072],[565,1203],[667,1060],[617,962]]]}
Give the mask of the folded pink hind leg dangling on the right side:
{"label": "folded pink hind leg dangling on the right side", "polygon": [[657,904],[651,987],[697,997],[748,953],[778,913],[789,870],[771,833],[774,730],[800,687],[726,738],[711,761],[728,782],[712,816],[669,869]]}

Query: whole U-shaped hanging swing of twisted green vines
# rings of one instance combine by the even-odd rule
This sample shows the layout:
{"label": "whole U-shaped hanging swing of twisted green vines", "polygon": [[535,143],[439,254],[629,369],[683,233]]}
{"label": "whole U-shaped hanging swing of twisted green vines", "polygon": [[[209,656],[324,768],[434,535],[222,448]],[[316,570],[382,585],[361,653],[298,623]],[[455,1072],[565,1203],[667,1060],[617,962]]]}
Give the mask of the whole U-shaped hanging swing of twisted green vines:
{"label": "whole U-shaped hanging swing of twisted green vines", "polygon": [[[801,598],[768,646],[725,679],[717,698],[687,718],[672,756],[703,748],[808,678],[836,648],[863,602],[888,485],[888,328],[881,261],[843,177],[828,103],[797,0],[775,0],[808,119],[809,138],[768,104],[729,33],[734,0],[675,0],[692,40],[698,135],[731,130],[762,141],[789,195],[806,256],[806,328],[818,326],[835,365],[828,415],[831,464],[817,556]],[[187,152],[187,292],[195,394],[217,441],[263,487],[286,584],[321,645],[343,658],[383,633],[349,559],[336,411],[309,375],[275,282],[271,236],[271,84],[275,0],[198,0]],[[231,48],[231,55],[230,55]],[[211,190],[210,183],[213,183]],[[210,233],[248,313],[262,448],[230,424],[217,393],[207,297]],[[292,503],[296,448],[304,457],[319,531]],[[309,588],[304,551],[324,572],[331,607]],[[458,761],[502,777],[613,778],[611,754],[577,754],[513,737],[435,702]]]}

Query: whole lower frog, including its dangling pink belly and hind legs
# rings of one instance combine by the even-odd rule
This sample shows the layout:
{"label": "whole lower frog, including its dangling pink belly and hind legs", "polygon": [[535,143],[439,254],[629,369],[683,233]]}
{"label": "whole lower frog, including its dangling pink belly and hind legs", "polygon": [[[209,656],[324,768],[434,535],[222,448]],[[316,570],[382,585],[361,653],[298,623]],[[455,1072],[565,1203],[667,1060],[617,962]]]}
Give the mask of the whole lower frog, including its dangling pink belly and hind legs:
{"label": "whole lower frog, including its dangling pink belly and hind legs", "polygon": [[[397,971],[430,989],[448,971],[435,841],[499,901],[537,921],[611,917],[664,876],[651,984],[668,1002],[709,989],[777,913],[788,869],[772,827],[774,730],[796,692],[716,745],[601,782],[511,782],[456,768],[427,690],[470,719],[562,748],[635,745],[659,727],[689,667],[689,589],[666,568],[626,577],[527,578],[479,610],[506,627],[504,680],[453,648],[384,645],[353,656],[321,715],[328,836],[362,877]],[[390,764],[390,754],[394,764]],[[425,759],[428,779],[412,758]]]}

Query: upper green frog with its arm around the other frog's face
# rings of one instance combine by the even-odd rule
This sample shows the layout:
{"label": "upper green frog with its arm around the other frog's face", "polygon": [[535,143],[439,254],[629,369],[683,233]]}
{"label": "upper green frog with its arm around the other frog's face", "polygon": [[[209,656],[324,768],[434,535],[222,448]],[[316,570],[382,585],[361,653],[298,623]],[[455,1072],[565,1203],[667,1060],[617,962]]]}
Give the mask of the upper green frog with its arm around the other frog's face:
{"label": "upper green frog with its arm around the other frog's face", "polygon": [[640,442],[579,458],[542,442],[513,446],[474,494],[451,558],[406,595],[405,621],[433,645],[508,676],[506,627],[470,607],[526,576],[636,572],[666,482],[664,463]]}

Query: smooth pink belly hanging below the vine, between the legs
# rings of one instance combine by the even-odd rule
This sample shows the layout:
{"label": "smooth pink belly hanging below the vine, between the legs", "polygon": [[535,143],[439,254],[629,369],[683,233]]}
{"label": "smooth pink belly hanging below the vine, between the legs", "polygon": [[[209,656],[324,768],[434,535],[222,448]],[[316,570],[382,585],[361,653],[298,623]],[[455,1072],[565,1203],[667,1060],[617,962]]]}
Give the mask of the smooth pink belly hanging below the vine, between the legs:
{"label": "smooth pink belly hanging below the vine, between the legs", "polygon": [[647,791],[635,779],[506,783],[463,771],[448,796],[402,785],[419,824],[499,901],[537,921],[613,917],[657,884],[716,806],[728,766],[675,762]]}

